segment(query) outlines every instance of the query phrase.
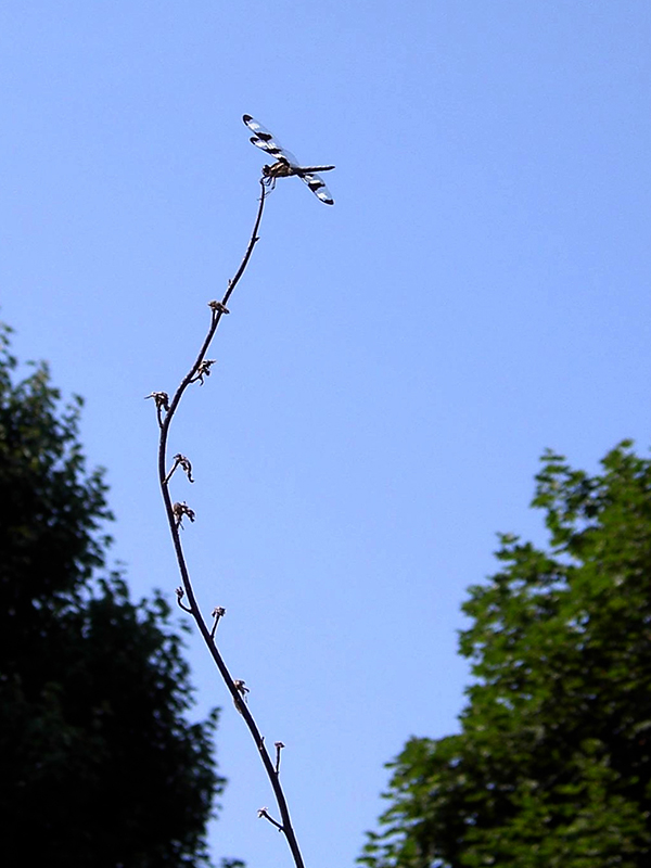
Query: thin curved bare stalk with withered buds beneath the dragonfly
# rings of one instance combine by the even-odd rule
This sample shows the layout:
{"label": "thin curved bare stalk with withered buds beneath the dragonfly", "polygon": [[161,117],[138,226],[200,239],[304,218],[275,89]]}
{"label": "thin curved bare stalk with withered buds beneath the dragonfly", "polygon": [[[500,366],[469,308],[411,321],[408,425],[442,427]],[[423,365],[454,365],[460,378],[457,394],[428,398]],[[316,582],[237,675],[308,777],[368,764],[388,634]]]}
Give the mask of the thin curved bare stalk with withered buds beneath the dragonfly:
{"label": "thin curved bare stalk with withered buds beneath the dragonfly", "polygon": [[[176,552],[179,572],[181,574],[182,587],[178,588],[177,590],[178,603],[180,608],[183,609],[183,611],[189,612],[196,622],[199,631],[201,633],[203,640],[206,643],[206,647],[210,652],[213,660],[215,661],[215,665],[219,669],[219,673],[224,678],[224,681],[228,690],[230,691],[235,709],[240,712],[240,714],[244,718],[244,723],[248,727],[248,731],[253,737],[253,740],[256,744],[256,748],[263,761],[263,765],[265,766],[265,770],[267,773],[267,776],[271,783],[271,788],[273,790],[273,795],[276,796],[276,802],[278,804],[281,821],[278,822],[277,820],[272,819],[268,815],[267,808],[260,808],[258,810],[258,816],[265,817],[273,826],[276,826],[280,831],[284,833],[290,851],[294,858],[294,864],[296,868],[305,868],[303,863],[303,857],[298,848],[298,842],[296,841],[296,835],[294,833],[294,828],[292,826],[292,820],[290,818],[288,803],[282,787],[280,784],[280,749],[278,748],[278,743],[280,742],[277,743],[277,758],[276,763],[273,763],[271,761],[271,757],[269,756],[269,753],[267,752],[267,748],[265,746],[265,739],[260,735],[259,729],[257,728],[257,725],[253,719],[251,712],[248,711],[248,706],[246,705],[245,694],[248,692],[248,689],[245,687],[244,681],[233,679],[230,672],[228,671],[226,663],[224,662],[224,658],[221,656],[219,649],[217,648],[217,641],[215,636],[216,636],[217,623],[219,618],[224,615],[224,609],[217,608],[213,610],[214,623],[212,625],[212,628],[208,628],[199,608],[199,603],[196,602],[196,597],[194,596],[194,590],[192,588],[192,583],[190,580],[190,574],[188,572],[186,558],[183,556],[183,549],[181,546],[180,529],[181,529],[182,519],[188,518],[192,522],[194,521],[194,513],[184,502],[173,503],[171,498],[169,496],[168,483],[171,475],[178,468],[180,468],[186,473],[189,482],[193,482],[192,468],[190,465],[189,460],[184,456],[177,455],[174,458],[174,464],[169,470],[169,472],[167,472],[166,470],[167,441],[169,435],[169,427],[171,425],[171,420],[178,409],[180,400],[188,386],[196,382],[203,383],[204,376],[207,376],[210,373],[209,369],[213,361],[210,359],[206,359],[206,354],[208,352],[213,337],[215,336],[221,317],[229,312],[227,308],[228,301],[233,290],[235,289],[237,284],[239,283],[240,278],[244,273],[244,270],[246,269],[246,266],[248,265],[248,260],[253,253],[253,248],[258,241],[257,233],[260,226],[260,220],[263,219],[263,210],[265,207],[265,199],[267,192],[268,191],[264,183],[264,179],[261,179],[260,204],[256,215],[255,224],[253,226],[253,232],[251,233],[251,239],[248,241],[248,245],[244,254],[244,258],[242,259],[242,263],[240,264],[240,267],[237,270],[232,280],[229,280],[228,288],[226,290],[226,293],[221,302],[209,303],[212,311],[210,327],[208,329],[208,333],[206,334],[206,337],[202,344],[202,347],[199,352],[199,355],[194,363],[192,365],[192,367],[181,381],[174,397],[171,398],[171,401],[169,400],[169,397],[165,392],[153,392],[148,397],[154,398],[156,405],[156,412],[158,417],[158,425],[161,429],[161,436],[158,441],[158,478],[161,483],[161,492],[163,494],[163,502],[165,505],[165,512],[167,514],[167,521],[171,534],[171,541],[174,545],[174,550]],[[183,600],[187,600],[187,603],[184,603]]]}

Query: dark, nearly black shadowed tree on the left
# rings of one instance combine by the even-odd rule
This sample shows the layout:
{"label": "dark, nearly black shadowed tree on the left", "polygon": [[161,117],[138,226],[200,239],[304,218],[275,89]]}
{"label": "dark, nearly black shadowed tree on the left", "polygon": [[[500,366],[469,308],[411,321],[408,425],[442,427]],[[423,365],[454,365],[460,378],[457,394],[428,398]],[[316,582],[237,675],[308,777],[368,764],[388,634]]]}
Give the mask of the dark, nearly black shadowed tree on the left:
{"label": "dark, nearly black shadowed tree on the left", "polygon": [[133,603],[106,572],[101,471],[87,473],[81,400],[44,365],[18,382],[0,332],[0,827],[2,863],[207,864],[224,779],[214,711],[193,689],[165,600]]}

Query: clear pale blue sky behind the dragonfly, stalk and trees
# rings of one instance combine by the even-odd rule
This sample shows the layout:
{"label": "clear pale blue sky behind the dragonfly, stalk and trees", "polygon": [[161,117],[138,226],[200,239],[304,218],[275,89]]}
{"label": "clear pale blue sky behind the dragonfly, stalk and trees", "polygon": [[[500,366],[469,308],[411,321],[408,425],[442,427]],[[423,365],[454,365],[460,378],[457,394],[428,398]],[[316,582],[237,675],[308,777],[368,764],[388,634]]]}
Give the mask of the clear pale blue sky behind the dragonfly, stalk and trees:
{"label": "clear pale blue sky behind the dragonfly, stalk and trees", "polygon": [[[649,445],[647,0],[4,0],[0,317],[87,399],[114,557],[178,584],[153,390],[173,392],[251,230],[251,113],[306,163],[171,436],[183,540],[251,688],[308,868],[352,866],[383,763],[457,730],[465,589],[528,510],[546,447],[595,470]],[[290,865],[256,750],[224,706],[215,860]]]}

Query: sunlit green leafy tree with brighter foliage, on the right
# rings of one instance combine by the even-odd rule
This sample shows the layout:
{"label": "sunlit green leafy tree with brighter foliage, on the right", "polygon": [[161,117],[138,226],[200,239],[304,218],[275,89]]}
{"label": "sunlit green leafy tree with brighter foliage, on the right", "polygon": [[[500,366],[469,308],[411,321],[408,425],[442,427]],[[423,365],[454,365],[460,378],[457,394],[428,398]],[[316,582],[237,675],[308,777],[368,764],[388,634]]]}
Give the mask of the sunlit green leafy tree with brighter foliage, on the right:
{"label": "sunlit green leafy tree with brighter foliage, on the right", "polygon": [[470,589],[460,735],[411,738],[359,859],[371,868],[651,864],[651,461],[595,476],[547,452],[549,550],[500,536]]}

